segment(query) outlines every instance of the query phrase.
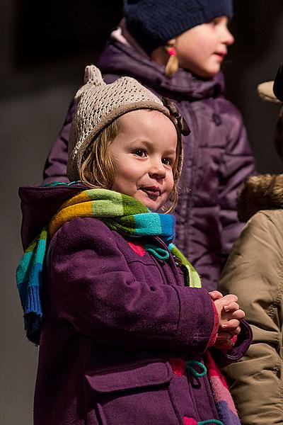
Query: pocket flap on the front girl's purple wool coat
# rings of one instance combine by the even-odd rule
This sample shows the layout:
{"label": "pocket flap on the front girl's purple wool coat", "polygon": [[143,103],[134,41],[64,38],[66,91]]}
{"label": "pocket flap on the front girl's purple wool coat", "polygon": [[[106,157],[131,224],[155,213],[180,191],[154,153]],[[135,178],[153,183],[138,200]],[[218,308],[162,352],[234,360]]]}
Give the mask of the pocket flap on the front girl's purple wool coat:
{"label": "pocket flap on the front girl's purple wool coat", "polygon": [[161,385],[172,378],[168,363],[149,363],[131,369],[111,370],[103,373],[86,374],[86,380],[96,392],[115,392],[134,388]]}

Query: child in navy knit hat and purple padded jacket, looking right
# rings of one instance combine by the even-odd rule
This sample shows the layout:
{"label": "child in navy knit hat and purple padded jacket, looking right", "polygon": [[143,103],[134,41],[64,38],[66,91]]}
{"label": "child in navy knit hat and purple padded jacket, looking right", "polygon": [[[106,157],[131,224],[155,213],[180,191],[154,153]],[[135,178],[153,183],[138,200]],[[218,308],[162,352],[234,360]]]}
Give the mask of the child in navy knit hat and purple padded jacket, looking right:
{"label": "child in navy knit hat and purple padded jacket, looking right", "polygon": [[[223,95],[220,68],[233,43],[227,29],[232,0],[125,0],[124,13],[98,64],[107,83],[134,77],[174,101],[190,123],[192,133],[183,137],[176,243],[199,271],[202,285],[213,290],[242,228],[238,186],[255,173],[241,115]],[[45,182],[68,181],[74,111],[71,103],[45,165]]]}

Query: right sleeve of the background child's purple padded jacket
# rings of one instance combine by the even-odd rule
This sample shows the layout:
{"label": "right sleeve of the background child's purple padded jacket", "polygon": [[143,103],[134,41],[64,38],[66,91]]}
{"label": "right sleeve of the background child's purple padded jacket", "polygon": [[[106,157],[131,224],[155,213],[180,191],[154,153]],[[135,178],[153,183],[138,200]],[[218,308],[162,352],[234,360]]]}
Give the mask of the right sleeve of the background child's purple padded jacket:
{"label": "right sleeve of the background child's purple padded jacket", "polygon": [[[227,105],[226,105],[227,108]],[[224,115],[226,148],[219,169],[219,205],[221,224],[221,256],[225,263],[233,242],[243,225],[238,221],[236,198],[238,187],[246,176],[255,174],[255,161],[248,144],[241,114],[228,103]],[[225,118],[226,117],[226,118]]]}

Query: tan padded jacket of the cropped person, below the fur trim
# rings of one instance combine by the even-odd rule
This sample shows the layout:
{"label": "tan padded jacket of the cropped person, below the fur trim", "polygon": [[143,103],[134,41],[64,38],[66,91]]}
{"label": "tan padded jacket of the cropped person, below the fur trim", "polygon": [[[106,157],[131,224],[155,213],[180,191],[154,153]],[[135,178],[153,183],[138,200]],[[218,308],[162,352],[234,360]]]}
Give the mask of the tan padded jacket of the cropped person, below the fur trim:
{"label": "tan padded jacket of the cropped person, below the fur trim", "polygon": [[219,290],[238,296],[253,329],[246,356],[226,368],[243,425],[283,423],[283,212],[277,212],[279,226],[270,212],[249,220],[219,281]]}

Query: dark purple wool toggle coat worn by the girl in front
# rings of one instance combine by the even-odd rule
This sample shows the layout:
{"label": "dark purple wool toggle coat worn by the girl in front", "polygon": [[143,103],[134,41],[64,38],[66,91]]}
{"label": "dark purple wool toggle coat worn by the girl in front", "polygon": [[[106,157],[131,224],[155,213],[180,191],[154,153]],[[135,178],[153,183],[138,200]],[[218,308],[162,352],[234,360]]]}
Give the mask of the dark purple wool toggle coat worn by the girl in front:
{"label": "dark purple wool toggle coat worn by the girl in front", "polygon": [[[20,189],[24,247],[79,190]],[[180,358],[202,361],[215,331],[212,301],[207,290],[185,287],[171,254],[162,261],[142,253],[144,242],[165,247],[159,239],[125,239],[91,217],[65,222],[54,234],[42,290],[34,425],[219,419],[207,375],[173,367]],[[248,349],[250,328],[241,326],[233,350],[214,349],[220,365]]]}

